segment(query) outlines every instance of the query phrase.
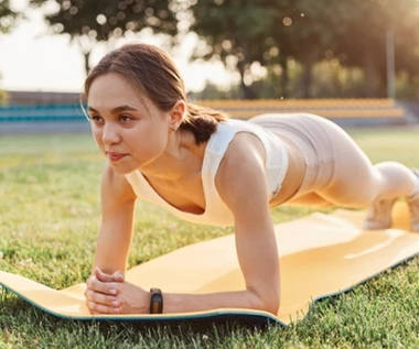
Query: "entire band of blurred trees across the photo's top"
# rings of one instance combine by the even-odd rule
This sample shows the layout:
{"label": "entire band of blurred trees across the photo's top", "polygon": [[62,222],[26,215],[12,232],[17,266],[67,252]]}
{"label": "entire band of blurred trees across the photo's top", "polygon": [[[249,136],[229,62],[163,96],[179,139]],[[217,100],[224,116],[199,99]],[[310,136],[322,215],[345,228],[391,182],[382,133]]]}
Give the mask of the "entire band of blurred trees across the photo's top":
{"label": "entire band of blurred trees across the photo's top", "polygon": [[[78,42],[89,69],[97,42],[112,42],[148,28],[173,37],[189,26],[201,39],[193,58],[221,59],[241,77],[241,98],[261,90],[253,75],[259,64],[278,97],[313,95],[313,68],[333,62],[364,72],[363,96],[386,91],[386,35],[394,33],[396,70],[413,81],[419,75],[418,0],[50,0],[45,15],[55,33]],[[30,0],[32,6],[45,1]],[[8,12],[9,11],[9,12]],[[1,20],[13,18],[9,0],[0,0]],[[185,22],[189,22],[185,25]],[[10,20],[3,20],[10,23]],[[290,76],[289,63],[296,62]],[[356,70],[358,72],[358,70]],[[292,78],[292,84],[290,79]],[[357,77],[357,81],[359,78]],[[291,86],[292,85],[292,86]]]}

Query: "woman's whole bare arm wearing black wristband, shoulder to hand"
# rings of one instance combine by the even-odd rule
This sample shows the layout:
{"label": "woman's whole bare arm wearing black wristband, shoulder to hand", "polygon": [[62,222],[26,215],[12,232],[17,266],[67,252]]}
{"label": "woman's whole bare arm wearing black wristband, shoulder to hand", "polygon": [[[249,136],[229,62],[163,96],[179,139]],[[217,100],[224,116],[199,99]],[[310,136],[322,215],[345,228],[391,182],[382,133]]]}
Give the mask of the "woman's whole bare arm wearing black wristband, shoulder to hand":
{"label": "woman's whole bare arm wearing black wristband, shoulder to hand", "polygon": [[[279,262],[264,170],[261,144],[248,134],[230,143],[216,175],[217,190],[235,215],[236,248],[246,290],[212,294],[171,294],[163,291],[163,313],[200,312],[214,308],[253,308],[277,314]],[[155,285],[157,287],[159,285]],[[89,280],[94,312],[149,313],[150,294],[127,282]],[[112,294],[116,302],[96,302]]]}

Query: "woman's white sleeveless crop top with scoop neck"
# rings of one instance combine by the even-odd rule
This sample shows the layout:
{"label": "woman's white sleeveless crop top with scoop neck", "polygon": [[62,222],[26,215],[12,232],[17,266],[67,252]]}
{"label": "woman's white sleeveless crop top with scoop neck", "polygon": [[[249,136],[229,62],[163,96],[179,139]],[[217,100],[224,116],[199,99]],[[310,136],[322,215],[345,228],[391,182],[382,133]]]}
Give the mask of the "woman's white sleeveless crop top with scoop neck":
{"label": "woman's white sleeveless crop top with scoop neck", "polygon": [[140,171],[127,174],[126,178],[139,199],[159,205],[180,219],[202,225],[232,226],[234,225],[233,212],[218,196],[214,179],[228,144],[238,132],[253,133],[264,144],[268,193],[269,197],[275,196],[281,188],[288,168],[288,154],[284,145],[278,137],[258,124],[235,119],[219,122],[217,131],[211,135],[206,144],[201,173],[205,196],[205,210],[203,214],[185,212],[170,205],[151,187]]}

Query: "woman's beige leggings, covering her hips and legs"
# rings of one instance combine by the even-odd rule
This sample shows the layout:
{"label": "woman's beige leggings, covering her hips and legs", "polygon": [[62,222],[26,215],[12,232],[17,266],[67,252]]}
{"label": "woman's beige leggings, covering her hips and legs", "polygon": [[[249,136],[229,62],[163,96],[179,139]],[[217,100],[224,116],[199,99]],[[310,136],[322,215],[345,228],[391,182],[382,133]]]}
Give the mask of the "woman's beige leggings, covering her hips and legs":
{"label": "woman's beige leggings, covering her hips and legs", "polygon": [[397,162],[373,165],[344,130],[322,117],[261,114],[249,121],[288,139],[305,160],[303,184],[284,205],[365,207],[416,188],[411,170]]}

